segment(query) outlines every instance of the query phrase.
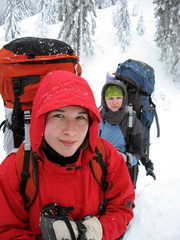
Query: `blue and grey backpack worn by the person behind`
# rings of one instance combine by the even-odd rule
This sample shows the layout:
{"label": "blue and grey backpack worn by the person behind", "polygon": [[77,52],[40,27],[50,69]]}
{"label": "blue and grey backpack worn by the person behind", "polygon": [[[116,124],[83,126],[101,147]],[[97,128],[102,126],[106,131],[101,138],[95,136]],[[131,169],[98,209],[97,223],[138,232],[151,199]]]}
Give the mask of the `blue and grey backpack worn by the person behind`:
{"label": "blue and grey backpack worn by the person behind", "polygon": [[[150,127],[154,117],[157,125],[157,137],[160,136],[156,105],[151,99],[155,85],[154,69],[142,61],[129,59],[118,64],[115,79],[126,85],[128,104],[133,106],[133,110],[144,128],[144,154],[149,159]],[[131,129],[129,129],[129,134],[131,134]]]}

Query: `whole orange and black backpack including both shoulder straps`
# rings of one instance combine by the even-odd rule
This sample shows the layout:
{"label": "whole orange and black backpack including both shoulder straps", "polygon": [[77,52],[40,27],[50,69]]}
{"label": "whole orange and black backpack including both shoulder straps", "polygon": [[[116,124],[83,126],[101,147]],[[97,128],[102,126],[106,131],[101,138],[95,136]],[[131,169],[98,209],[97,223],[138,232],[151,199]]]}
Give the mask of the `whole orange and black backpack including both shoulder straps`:
{"label": "whole orange and black backpack including both shoulder straps", "polygon": [[[16,171],[26,208],[32,205],[38,192],[37,157],[31,151],[29,138],[32,103],[42,77],[55,70],[81,75],[78,57],[64,42],[25,37],[8,43],[0,50],[0,94],[5,109],[12,111],[10,118],[6,118],[5,131],[8,129],[13,133],[13,148],[18,148]],[[100,213],[103,213],[108,183],[105,180],[106,150],[100,140],[96,154],[90,160],[90,168],[104,193],[104,200],[99,207]]]}

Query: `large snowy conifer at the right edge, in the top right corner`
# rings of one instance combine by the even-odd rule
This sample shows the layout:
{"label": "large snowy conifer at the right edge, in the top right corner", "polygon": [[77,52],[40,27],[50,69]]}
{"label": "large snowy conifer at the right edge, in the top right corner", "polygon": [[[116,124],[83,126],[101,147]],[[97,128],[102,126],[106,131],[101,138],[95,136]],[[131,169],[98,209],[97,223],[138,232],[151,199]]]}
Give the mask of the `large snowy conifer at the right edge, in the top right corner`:
{"label": "large snowy conifer at the right edge, in the top right corner", "polygon": [[167,63],[174,81],[180,81],[180,2],[154,0],[157,30],[155,40],[161,48],[161,60]]}

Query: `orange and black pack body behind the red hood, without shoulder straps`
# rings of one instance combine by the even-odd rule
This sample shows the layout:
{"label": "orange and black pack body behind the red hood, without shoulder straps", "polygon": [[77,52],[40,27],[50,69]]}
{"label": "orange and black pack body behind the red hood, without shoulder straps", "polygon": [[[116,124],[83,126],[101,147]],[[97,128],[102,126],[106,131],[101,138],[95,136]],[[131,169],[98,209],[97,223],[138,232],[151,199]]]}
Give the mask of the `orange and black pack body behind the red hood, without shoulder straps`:
{"label": "orange and black pack body behind the red hood, without shoulder straps", "polygon": [[[0,94],[4,100],[5,110],[8,110],[4,123],[5,128],[13,133],[12,148],[18,148],[24,140],[24,122],[27,120],[27,118],[24,120],[24,113],[32,109],[33,99],[42,77],[55,70],[81,75],[78,60],[76,53],[68,44],[56,39],[24,37],[2,47]],[[4,145],[6,147],[8,143]]]}

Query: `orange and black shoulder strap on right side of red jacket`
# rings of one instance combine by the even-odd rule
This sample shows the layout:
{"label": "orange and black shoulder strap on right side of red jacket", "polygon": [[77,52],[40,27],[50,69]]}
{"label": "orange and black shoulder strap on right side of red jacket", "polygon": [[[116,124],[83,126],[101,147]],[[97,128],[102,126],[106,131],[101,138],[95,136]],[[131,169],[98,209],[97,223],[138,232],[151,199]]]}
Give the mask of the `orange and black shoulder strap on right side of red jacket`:
{"label": "orange and black shoulder strap on right side of red jacket", "polygon": [[103,201],[99,206],[100,215],[103,215],[106,212],[107,205],[106,199],[106,191],[108,189],[108,181],[106,180],[107,155],[105,146],[99,138],[95,148],[95,156],[90,160],[89,164],[95,180],[97,181],[98,185],[103,191]]}

